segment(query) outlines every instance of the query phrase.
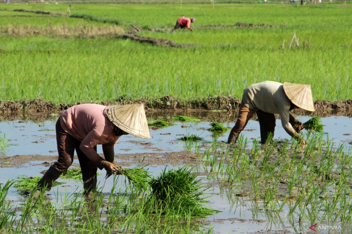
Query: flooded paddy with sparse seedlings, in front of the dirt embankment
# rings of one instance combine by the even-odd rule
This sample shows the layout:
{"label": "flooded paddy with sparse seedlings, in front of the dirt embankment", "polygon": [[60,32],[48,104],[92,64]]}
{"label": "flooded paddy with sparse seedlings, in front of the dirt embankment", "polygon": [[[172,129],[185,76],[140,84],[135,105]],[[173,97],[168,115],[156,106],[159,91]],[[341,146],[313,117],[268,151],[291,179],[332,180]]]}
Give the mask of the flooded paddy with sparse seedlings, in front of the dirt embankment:
{"label": "flooded paddy with sparse seedlings, in front of the dirt embankment", "polygon": [[[223,113],[214,112],[187,115],[200,121],[178,122],[170,120],[172,115],[149,113],[149,121],[163,119],[175,125],[152,127],[148,140],[122,136],[115,145],[115,160],[123,167],[145,166],[151,176],[190,167],[206,189],[207,205],[218,212],[189,218],[141,214],[138,210],[145,205],[148,192],[137,194],[124,176],[105,180],[105,171],[99,171],[100,194],[95,200],[81,195],[82,181],[59,178],[57,181],[64,184],[47,192],[48,200],[29,208],[31,196],[10,186],[2,201],[2,211],[8,209],[9,214],[2,227],[27,233],[65,228],[74,233],[152,233],[153,229],[157,233],[351,232],[350,117],[322,118],[326,134],[310,135],[302,148],[288,138],[280,120],[271,144],[258,142],[259,123],[250,120],[238,143],[227,145],[222,141],[227,140],[229,132],[214,137],[207,129],[212,121],[233,127],[235,116],[224,118]],[[0,136],[5,138],[0,156],[3,188],[9,178],[42,176],[40,172],[57,159],[57,117],[46,115],[39,121],[15,117],[0,122]],[[297,116],[302,122],[309,118]],[[190,135],[202,140],[177,140]],[[100,146],[98,153],[102,154]],[[74,165],[79,165],[76,156]],[[309,229],[315,224],[317,232]]]}

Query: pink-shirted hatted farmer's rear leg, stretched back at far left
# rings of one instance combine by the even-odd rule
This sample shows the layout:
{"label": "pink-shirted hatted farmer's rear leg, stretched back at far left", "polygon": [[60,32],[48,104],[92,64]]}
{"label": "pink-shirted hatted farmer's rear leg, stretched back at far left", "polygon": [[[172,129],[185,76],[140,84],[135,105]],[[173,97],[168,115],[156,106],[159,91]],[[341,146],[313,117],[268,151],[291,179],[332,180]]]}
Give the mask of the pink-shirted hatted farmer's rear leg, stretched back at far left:
{"label": "pink-shirted hatted farmer's rear leg, stretched back at far left", "polygon": [[73,161],[73,154],[75,152],[75,142],[77,141],[73,136],[67,134],[61,127],[60,120],[56,122],[56,142],[59,158],[50,166],[48,171],[43,175],[38,182],[39,189],[48,185],[46,190],[50,190],[52,184],[62,173],[67,171]]}

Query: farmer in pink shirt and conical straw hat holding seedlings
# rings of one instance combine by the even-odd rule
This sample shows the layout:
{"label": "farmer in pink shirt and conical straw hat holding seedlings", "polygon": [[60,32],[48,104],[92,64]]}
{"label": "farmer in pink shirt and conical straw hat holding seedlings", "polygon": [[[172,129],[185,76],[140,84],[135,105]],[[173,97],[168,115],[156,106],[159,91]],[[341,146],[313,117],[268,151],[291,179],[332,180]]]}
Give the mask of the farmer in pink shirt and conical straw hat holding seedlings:
{"label": "farmer in pink shirt and conical straw hat holding seedlings", "polygon": [[[117,168],[115,142],[122,135],[132,134],[150,138],[143,104],[116,105],[106,107],[98,104],[81,104],[64,111],[56,122],[58,160],[50,166],[38,182],[39,190],[52,184],[62,173],[66,173],[73,162],[76,150],[83,176],[84,193],[96,188],[96,171],[99,168],[111,173]],[[102,145],[102,158],[96,146]],[[39,190],[33,196],[40,194]]]}

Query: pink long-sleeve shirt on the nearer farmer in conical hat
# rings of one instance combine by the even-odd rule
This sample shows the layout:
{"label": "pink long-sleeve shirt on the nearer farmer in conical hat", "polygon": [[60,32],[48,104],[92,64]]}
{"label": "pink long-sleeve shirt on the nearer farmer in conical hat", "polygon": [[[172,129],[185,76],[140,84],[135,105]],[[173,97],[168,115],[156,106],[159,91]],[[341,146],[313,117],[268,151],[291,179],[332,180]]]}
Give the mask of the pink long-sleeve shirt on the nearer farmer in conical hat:
{"label": "pink long-sleeve shirt on the nearer farmer in conical hat", "polygon": [[64,111],[60,116],[61,127],[65,132],[81,141],[80,149],[99,169],[104,159],[95,152],[94,146],[103,145],[104,149],[114,149],[120,136],[114,133],[114,124],[104,113],[106,106],[81,104]]}

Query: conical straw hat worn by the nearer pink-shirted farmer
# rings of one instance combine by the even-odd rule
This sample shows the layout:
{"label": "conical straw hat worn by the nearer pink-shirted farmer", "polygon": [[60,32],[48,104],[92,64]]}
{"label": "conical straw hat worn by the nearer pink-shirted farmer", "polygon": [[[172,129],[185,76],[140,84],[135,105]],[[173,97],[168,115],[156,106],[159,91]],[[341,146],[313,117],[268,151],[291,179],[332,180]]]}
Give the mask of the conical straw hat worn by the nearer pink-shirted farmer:
{"label": "conical straw hat worn by the nearer pink-shirted farmer", "polygon": [[140,138],[150,138],[144,106],[140,104],[116,105],[105,108],[105,114],[115,126]]}

